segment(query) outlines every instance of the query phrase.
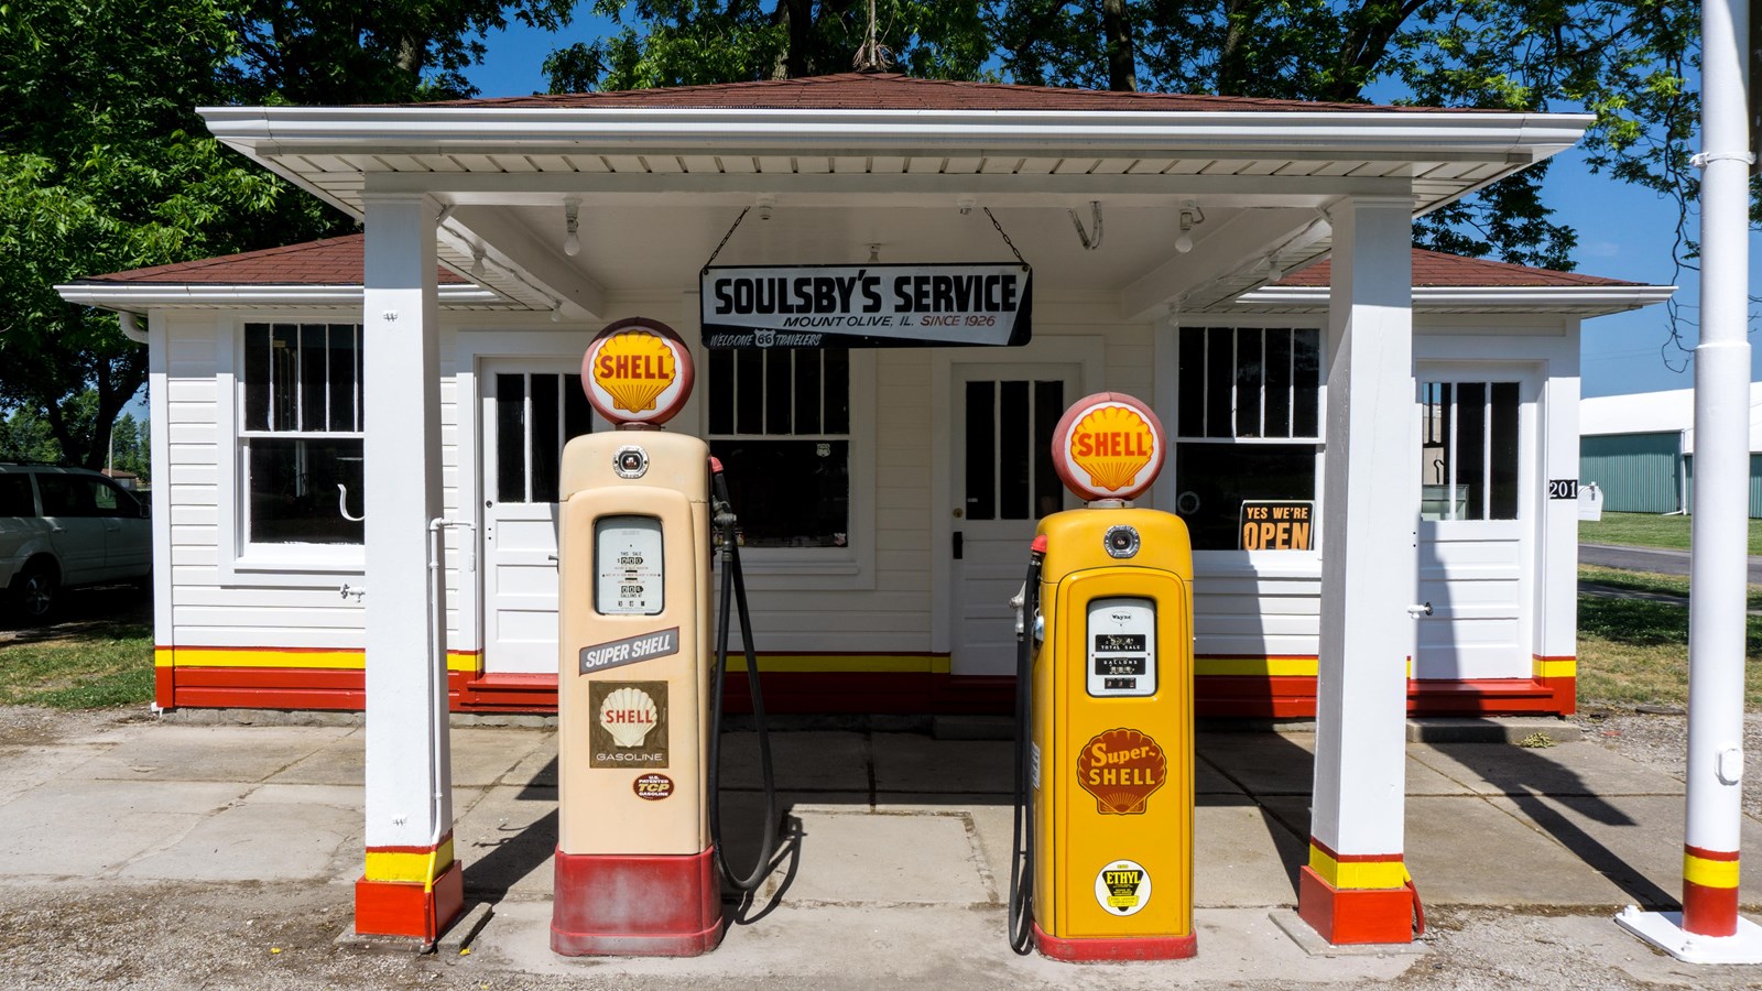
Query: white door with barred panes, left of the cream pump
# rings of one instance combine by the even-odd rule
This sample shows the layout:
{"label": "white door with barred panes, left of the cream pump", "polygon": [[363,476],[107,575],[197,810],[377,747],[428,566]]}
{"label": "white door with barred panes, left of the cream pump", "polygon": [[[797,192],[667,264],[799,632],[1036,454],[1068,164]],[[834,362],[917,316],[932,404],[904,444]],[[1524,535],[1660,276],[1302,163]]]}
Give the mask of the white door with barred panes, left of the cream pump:
{"label": "white door with barred panes, left of the cream pump", "polygon": [[478,379],[486,674],[557,672],[557,473],[564,443],[594,428],[578,369],[576,358],[485,361]]}

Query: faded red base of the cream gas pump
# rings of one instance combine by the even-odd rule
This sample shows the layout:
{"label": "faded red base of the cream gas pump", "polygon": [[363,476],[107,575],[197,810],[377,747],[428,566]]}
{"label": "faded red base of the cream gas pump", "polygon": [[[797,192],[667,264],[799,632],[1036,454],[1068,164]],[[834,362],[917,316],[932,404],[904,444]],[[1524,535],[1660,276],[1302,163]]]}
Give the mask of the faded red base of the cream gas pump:
{"label": "faded red base of the cream gas pump", "polygon": [[684,857],[557,852],[552,950],[700,956],[722,942],[714,848]]}

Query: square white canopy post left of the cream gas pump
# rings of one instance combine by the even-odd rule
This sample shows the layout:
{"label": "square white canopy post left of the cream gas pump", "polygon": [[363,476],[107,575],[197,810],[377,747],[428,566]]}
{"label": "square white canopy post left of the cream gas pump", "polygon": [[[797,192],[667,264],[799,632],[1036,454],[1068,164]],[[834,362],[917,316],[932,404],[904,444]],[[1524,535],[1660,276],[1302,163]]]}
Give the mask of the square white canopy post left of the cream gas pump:
{"label": "square white canopy post left of the cream gas pump", "polygon": [[433,942],[463,901],[453,857],[440,517],[435,203],[368,194],[361,407],[366,513],[366,866],[356,931]]}

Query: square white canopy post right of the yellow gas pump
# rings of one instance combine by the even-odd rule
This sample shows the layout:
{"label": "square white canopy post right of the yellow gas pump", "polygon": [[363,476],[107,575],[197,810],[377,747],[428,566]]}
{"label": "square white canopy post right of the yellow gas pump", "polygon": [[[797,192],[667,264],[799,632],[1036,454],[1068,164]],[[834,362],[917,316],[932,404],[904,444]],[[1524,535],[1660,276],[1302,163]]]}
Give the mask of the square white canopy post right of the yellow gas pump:
{"label": "square white canopy post right of the yellow gas pump", "polygon": [[1406,686],[1420,511],[1410,197],[1332,213],[1314,811],[1297,910],[1332,943],[1411,942]]}

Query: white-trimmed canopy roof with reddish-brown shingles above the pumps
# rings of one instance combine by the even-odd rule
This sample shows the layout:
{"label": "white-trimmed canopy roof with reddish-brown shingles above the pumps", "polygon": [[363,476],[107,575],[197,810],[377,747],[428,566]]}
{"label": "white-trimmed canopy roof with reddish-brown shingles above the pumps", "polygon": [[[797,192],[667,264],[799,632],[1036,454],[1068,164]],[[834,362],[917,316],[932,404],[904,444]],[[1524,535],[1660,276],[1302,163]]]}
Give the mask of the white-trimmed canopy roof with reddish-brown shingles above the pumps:
{"label": "white-trimmed canopy roof with reddish-brown shingles above the pumps", "polygon": [[[1124,319],[1203,309],[1327,252],[1325,210],[1415,213],[1568,148],[1588,115],[1112,93],[840,74],[622,93],[352,108],[204,108],[229,146],[361,217],[368,192],[448,212],[440,259],[483,254],[506,300],[604,316],[608,287],[680,291],[722,263],[1008,259]],[[566,256],[567,203],[581,252]],[[1085,250],[1068,210],[1105,243]],[[957,215],[957,208],[964,213]],[[1179,256],[1182,210],[1195,250]],[[1255,266],[1260,266],[1256,272]]]}

